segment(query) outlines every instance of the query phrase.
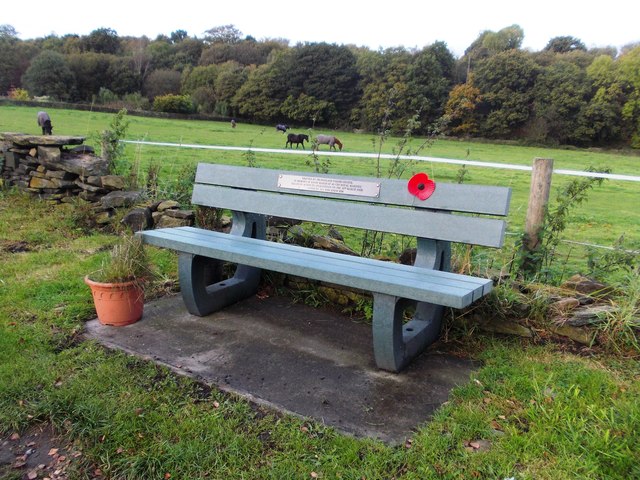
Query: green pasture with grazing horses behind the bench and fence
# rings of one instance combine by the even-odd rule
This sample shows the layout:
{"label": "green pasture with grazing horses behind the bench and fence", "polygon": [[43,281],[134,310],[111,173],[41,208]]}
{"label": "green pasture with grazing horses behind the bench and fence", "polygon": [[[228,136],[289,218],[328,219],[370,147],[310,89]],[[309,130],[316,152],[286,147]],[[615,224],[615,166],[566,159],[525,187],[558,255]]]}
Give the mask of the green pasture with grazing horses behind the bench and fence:
{"label": "green pasture with grazing horses behind the bench and fence", "polygon": [[[0,106],[0,131],[39,133],[36,125],[37,107]],[[48,109],[58,135],[80,135],[87,138],[86,143],[97,147],[97,133],[108,128],[113,114]],[[276,132],[274,126],[251,125],[240,122],[232,129],[227,122],[203,120],[175,120],[128,115],[129,129],[127,140],[165,142],[178,145],[220,145],[241,148],[282,149],[286,138]],[[333,133],[344,143],[344,153],[370,153],[378,151],[397,154],[399,138],[387,138],[380,149],[380,138],[373,134],[352,132],[313,131],[306,128],[293,128],[294,132],[307,132],[313,137],[317,133]],[[424,139],[415,138],[401,153],[415,153],[424,143]],[[326,147],[323,147],[326,148]],[[585,170],[609,168],[611,173],[640,175],[640,155],[636,152],[605,152],[578,149],[552,149],[543,147],[525,147],[448,139],[436,139],[421,149],[420,156],[516,164],[531,166],[536,157],[552,158],[554,169]],[[127,145],[126,157],[137,165],[140,179],[144,179],[150,163],[159,165],[160,176],[173,178],[188,164],[198,162],[216,162],[229,164],[247,164],[246,151],[220,151],[211,149]],[[323,156],[320,156],[321,159]],[[324,156],[324,158],[327,158]],[[354,158],[332,156],[329,171],[363,176],[375,176],[379,168],[381,176],[388,173],[388,161],[381,160],[380,167],[376,158]],[[264,168],[291,170],[312,170],[308,164],[310,156],[283,153],[255,153],[255,163]],[[415,162],[404,172],[408,178],[412,173],[424,171],[436,182],[455,182],[460,171],[459,165],[447,165],[436,162]],[[529,196],[530,173],[528,171],[500,170],[468,166],[465,182],[503,185],[513,188],[510,216],[508,219],[507,245],[519,240],[524,228]],[[551,193],[551,209],[557,192],[576,177],[554,175]],[[640,182],[606,180],[588,194],[588,201],[573,208],[563,239],[577,243],[563,243],[559,256],[568,263],[568,270],[584,273],[586,249],[581,243],[612,247],[624,236],[622,244],[627,250],[640,249]],[[606,252],[606,249],[596,249]],[[503,261],[507,261],[510,249],[501,252]],[[570,272],[572,273],[572,272]]]}

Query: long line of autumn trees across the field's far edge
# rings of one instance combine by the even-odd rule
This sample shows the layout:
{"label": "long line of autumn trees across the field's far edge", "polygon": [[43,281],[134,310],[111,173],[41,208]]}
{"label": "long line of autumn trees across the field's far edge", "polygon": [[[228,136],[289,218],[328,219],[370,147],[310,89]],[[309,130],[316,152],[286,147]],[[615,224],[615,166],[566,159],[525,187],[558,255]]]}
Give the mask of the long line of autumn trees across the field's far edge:
{"label": "long line of autumn trees across the field's far edge", "polygon": [[203,38],[88,35],[20,40],[0,25],[0,92],[256,122],[640,147],[640,44],[587,49],[570,36],[537,52],[512,25],[456,58],[443,42],[377,51],[256,40],[233,25]]}

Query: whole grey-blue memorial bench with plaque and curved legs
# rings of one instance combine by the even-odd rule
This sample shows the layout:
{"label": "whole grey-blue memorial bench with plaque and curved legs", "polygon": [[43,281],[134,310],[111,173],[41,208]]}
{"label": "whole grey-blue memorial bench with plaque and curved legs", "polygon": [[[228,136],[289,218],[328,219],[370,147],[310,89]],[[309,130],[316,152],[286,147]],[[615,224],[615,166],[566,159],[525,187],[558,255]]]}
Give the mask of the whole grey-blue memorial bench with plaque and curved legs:
{"label": "whole grey-blue memorial bench with plaque and curved legs", "polygon": [[[204,316],[254,295],[261,269],[373,294],[373,346],[379,368],[400,371],[435,341],[444,307],[464,308],[492,281],[449,272],[450,242],[500,247],[511,189],[437,183],[421,200],[406,180],[198,165],[194,205],[232,211],[229,233],[193,227],[139,232],[145,243],[179,252],[188,311]],[[424,187],[424,185],[421,185]],[[456,213],[453,213],[456,212]],[[482,216],[479,216],[482,215]],[[416,237],[414,265],[266,240],[270,216]],[[220,262],[231,278],[210,279]],[[415,308],[413,318],[405,311]]]}

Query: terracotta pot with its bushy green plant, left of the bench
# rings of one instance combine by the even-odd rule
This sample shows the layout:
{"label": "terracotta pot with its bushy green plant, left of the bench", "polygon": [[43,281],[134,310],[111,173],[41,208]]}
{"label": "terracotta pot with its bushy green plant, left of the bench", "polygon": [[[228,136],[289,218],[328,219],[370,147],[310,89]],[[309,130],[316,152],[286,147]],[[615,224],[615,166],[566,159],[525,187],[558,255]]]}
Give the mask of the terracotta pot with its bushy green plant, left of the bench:
{"label": "terracotta pot with its bushy green plant, left of the bench", "polygon": [[142,318],[144,284],[153,277],[139,237],[123,236],[99,270],[84,277],[91,288],[98,320],[103,325],[124,326]]}

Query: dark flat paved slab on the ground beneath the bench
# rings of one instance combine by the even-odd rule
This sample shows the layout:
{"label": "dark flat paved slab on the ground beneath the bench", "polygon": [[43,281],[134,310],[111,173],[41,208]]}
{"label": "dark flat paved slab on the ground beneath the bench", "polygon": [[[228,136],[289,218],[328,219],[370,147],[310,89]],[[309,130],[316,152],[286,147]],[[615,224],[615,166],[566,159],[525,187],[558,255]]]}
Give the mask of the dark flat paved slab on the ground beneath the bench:
{"label": "dark flat paved slab on the ground beneath the bench", "polygon": [[256,297],[207,317],[181,297],[145,305],[139,322],[87,336],[222,390],[356,436],[398,443],[429,419],[472,362],[428,351],[405,371],[378,370],[371,327],[287,298]]}

